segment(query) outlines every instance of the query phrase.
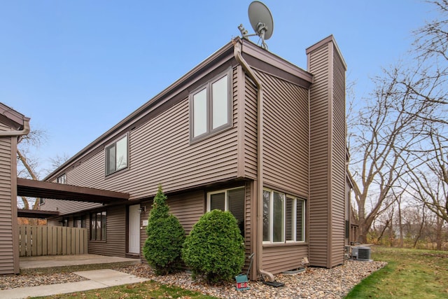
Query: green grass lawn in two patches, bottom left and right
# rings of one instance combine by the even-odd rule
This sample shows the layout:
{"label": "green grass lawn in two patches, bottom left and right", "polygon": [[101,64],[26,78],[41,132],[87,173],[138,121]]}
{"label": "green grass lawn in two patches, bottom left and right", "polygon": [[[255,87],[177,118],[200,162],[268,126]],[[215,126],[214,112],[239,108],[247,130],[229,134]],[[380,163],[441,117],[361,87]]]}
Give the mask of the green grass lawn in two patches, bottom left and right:
{"label": "green grass lawn in two patches, bottom left and right", "polygon": [[[346,298],[448,298],[448,251],[372,247],[386,267],[365,278]],[[368,262],[366,262],[368,263]],[[214,298],[155,281],[43,298]]]}

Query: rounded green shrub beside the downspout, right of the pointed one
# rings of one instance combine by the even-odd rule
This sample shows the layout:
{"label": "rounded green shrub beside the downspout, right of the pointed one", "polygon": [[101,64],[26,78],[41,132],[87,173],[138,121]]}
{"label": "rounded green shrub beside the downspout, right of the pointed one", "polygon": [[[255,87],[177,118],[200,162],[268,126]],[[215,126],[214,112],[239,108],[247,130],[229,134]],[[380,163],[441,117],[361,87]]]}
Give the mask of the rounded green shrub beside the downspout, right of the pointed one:
{"label": "rounded green shrub beside the downspout, right of the pointed one", "polygon": [[217,209],[204,214],[183,244],[182,258],[193,277],[208,283],[235,279],[244,265],[244,239],[237,219]]}

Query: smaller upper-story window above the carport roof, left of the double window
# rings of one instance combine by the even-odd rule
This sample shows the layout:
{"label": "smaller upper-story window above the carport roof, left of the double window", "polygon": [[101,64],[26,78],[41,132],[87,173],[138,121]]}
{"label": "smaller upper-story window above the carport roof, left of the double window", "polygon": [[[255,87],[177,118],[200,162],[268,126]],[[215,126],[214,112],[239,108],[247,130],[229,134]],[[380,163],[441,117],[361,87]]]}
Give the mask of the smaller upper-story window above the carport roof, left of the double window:
{"label": "smaller upper-story window above the carport roof, left of the double window", "polygon": [[106,146],[106,175],[127,168],[128,149],[127,134]]}

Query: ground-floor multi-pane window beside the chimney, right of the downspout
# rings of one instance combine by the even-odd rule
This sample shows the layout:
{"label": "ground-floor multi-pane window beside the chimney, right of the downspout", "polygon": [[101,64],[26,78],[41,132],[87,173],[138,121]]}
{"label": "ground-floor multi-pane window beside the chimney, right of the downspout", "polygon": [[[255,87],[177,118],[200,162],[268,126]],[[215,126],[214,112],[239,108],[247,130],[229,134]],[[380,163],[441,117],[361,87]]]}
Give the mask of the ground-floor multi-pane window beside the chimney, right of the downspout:
{"label": "ground-floor multi-pane window beside the chimney, right of the downspout", "polygon": [[304,200],[263,191],[263,242],[304,242]]}

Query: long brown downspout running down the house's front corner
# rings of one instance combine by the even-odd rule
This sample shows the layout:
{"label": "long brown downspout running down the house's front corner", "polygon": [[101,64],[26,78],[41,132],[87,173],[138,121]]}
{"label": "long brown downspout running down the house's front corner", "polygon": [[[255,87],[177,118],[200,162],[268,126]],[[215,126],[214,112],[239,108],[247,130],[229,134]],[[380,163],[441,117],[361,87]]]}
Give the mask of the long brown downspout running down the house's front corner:
{"label": "long brown downspout running down the house's front corner", "polygon": [[[238,39],[238,38],[237,38]],[[233,55],[241,67],[244,69],[244,72],[252,79],[257,87],[257,254],[255,257],[257,259],[257,271],[263,276],[268,277],[269,281],[274,281],[274,275],[270,272],[262,270],[262,250],[263,250],[263,225],[262,225],[262,214],[263,214],[263,107],[262,107],[262,85],[258,80],[255,73],[252,71],[251,67],[248,65],[246,60],[244,60],[241,55],[241,43],[234,39],[233,44]]]}

